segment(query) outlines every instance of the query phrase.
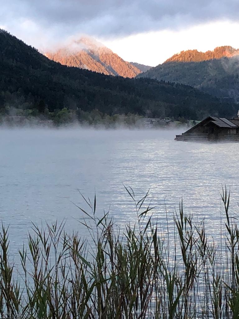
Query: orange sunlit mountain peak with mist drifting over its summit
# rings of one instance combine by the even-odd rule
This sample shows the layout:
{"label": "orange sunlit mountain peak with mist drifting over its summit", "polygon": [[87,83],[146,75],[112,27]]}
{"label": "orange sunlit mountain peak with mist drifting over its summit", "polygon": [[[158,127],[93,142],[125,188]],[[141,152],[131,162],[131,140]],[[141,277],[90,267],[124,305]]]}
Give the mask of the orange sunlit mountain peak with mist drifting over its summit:
{"label": "orange sunlit mountain peak with mist drifting over its summit", "polygon": [[134,78],[141,70],[121,59],[103,44],[91,39],[81,38],[56,52],[45,53],[49,59],[67,66]]}

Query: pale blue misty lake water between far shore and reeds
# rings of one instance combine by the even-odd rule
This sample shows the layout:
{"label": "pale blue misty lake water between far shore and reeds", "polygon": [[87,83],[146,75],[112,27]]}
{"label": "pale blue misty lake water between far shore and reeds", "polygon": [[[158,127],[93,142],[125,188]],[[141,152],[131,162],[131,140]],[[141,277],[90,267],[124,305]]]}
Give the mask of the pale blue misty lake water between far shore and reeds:
{"label": "pale blue misty lake water between far shore and reeds", "polygon": [[239,194],[239,144],[175,142],[178,130],[0,130],[0,218],[10,225],[13,252],[25,241],[31,222],[65,220],[65,229],[87,231],[77,220],[84,209],[79,191],[115,223],[135,222],[134,204],[124,185],[138,199],[150,188],[148,202],[165,226],[183,197],[184,210],[206,220],[208,234],[220,233],[220,192],[231,188],[235,215]]}

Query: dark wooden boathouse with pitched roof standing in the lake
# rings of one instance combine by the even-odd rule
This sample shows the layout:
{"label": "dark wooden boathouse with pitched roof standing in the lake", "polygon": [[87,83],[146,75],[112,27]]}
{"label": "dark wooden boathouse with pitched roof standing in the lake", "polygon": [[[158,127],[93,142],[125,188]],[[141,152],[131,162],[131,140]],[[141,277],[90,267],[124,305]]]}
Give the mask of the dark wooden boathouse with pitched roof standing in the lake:
{"label": "dark wooden boathouse with pitched roof standing in the lake", "polygon": [[176,135],[175,140],[239,141],[239,118],[228,120],[223,117],[208,116],[185,133]]}

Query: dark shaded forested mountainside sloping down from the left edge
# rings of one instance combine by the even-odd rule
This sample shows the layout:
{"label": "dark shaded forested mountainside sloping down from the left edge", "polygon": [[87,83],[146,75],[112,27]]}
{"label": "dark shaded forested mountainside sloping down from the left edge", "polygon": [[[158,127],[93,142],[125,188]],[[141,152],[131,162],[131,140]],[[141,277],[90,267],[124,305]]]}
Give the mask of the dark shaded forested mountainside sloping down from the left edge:
{"label": "dark shaded forested mountainside sloping down from the left edge", "polygon": [[0,32],[0,114],[12,108],[37,115],[98,110],[105,115],[202,119],[233,116],[237,106],[187,85],[113,77],[49,60],[11,34]]}

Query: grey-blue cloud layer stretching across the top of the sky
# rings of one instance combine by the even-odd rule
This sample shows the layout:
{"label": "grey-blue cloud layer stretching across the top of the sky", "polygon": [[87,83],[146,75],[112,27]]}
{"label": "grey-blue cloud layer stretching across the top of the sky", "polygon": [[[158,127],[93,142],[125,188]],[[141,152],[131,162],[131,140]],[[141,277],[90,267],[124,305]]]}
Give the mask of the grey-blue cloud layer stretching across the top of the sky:
{"label": "grey-blue cloud layer stretching across the top of the sky", "polygon": [[1,5],[0,21],[11,33],[28,31],[41,42],[78,33],[114,38],[175,30],[212,20],[238,20],[238,11],[238,0],[11,0]]}

